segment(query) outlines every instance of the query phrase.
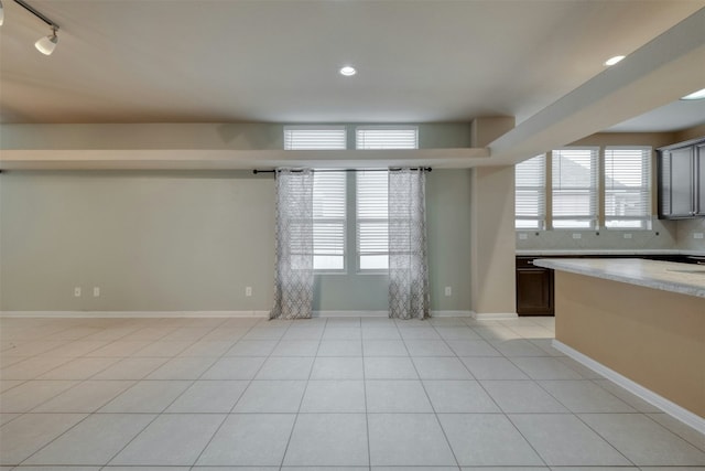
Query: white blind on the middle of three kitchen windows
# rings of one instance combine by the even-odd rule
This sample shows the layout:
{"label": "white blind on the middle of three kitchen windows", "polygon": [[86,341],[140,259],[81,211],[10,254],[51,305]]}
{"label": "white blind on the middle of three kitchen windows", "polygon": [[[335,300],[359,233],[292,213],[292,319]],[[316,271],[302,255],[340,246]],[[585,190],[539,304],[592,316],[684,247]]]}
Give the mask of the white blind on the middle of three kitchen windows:
{"label": "white blind on the middle of three kitchen windows", "polygon": [[597,228],[597,148],[552,151],[553,227]]}

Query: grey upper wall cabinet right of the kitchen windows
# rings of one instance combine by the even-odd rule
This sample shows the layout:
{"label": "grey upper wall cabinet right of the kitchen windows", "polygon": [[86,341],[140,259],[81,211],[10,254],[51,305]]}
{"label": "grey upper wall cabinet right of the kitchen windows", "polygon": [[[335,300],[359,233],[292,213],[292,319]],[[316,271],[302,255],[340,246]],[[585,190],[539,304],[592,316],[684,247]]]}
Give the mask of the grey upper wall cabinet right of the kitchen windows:
{"label": "grey upper wall cabinet right of the kitchen windows", "polygon": [[705,217],[705,139],[659,149],[659,217]]}

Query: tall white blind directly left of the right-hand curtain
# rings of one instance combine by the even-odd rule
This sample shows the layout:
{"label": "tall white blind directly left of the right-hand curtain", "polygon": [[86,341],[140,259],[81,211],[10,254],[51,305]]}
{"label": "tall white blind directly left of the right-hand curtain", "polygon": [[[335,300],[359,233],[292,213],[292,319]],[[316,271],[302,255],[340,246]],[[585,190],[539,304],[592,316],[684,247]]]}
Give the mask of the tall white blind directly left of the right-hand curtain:
{"label": "tall white blind directly left of the right-hand curtain", "polygon": [[389,173],[356,173],[357,255],[360,270],[389,267]]}

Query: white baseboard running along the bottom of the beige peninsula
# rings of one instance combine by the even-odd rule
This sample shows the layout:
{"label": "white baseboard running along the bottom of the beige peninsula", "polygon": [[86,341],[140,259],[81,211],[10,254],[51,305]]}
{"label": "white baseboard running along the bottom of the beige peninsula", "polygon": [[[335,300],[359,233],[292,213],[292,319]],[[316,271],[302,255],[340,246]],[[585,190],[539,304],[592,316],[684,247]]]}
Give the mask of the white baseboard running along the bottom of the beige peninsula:
{"label": "white baseboard running along the bottom of the beige peninsula", "polygon": [[589,356],[584,355],[583,353],[578,352],[575,349],[570,347],[568,345],[566,345],[561,341],[557,341],[554,339],[552,344],[554,349],[565,353],[571,358],[575,360],[582,365],[593,370],[596,373],[599,373],[600,375],[605,376],[607,379],[611,381],[612,383],[616,383],[617,385],[623,387],[631,394],[639,396],[647,403],[658,407],[659,409],[663,410],[668,415],[679,419],[683,424],[690,427],[693,427],[695,430],[699,431],[701,433],[705,433],[705,418],[698,415],[695,415],[687,409],[684,409],[677,404],[672,403],[671,400],[654,393],[653,390],[643,387],[639,383],[636,383],[629,379],[628,377],[622,376],[616,371],[603,365],[599,362],[596,362]]}

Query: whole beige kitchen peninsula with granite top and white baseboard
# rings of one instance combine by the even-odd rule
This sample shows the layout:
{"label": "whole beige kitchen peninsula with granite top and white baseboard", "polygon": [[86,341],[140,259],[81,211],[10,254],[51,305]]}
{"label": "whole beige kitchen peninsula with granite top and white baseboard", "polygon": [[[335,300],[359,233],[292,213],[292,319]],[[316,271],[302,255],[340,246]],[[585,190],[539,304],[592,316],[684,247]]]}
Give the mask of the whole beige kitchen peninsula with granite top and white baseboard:
{"label": "whole beige kitchen peninsula with granite top and white baseboard", "polygon": [[555,346],[705,431],[705,266],[538,259],[555,270]]}

